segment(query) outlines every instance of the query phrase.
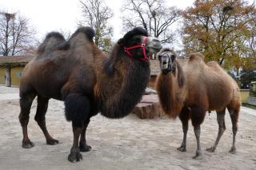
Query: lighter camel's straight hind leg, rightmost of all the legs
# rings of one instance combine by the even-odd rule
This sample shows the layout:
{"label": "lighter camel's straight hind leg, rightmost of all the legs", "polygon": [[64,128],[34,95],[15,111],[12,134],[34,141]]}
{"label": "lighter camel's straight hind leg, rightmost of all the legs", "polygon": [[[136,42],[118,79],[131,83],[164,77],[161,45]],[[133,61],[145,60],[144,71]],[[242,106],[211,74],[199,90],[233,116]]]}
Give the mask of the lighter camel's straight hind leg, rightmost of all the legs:
{"label": "lighter camel's straight hind leg, rightmost of all the legs", "polygon": [[229,113],[230,113],[230,118],[232,122],[232,131],[233,131],[233,143],[232,147],[230,148],[230,153],[234,154],[236,152],[236,147],[235,147],[235,138],[236,134],[238,132],[238,117],[239,117],[239,112],[240,112],[240,105],[237,107],[228,107]]}

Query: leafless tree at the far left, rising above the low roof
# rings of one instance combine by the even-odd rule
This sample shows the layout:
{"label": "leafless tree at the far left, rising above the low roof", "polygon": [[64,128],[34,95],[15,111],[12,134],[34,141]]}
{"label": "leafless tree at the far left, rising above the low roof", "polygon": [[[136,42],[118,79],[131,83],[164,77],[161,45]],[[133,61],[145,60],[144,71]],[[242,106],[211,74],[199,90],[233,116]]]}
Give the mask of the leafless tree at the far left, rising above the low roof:
{"label": "leafless tree at the far left, rising above the low roof", "polygon": [[[25,52],[34,43],[34,30],[27,18],[18,14],[0,13],[0,53],[14,56]],[[6,67],[6,86],[10,87],[10,67]]]}

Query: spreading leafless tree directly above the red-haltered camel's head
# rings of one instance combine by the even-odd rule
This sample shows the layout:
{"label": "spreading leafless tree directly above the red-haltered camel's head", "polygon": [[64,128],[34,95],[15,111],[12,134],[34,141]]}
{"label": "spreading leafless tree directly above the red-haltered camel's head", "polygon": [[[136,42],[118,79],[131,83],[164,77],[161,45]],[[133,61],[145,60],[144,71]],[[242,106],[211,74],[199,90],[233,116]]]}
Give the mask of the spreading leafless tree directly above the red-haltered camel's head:
{"label": "spreading leafless tree directly above the red-haltered camel's head", "polygon": [[174,32],[170,26],[181,17],[181,11],[167,7],[164,0],[128,0],[122,10],[125,11],[122,17],[124,30],[142,26],[162,43],[173,41]]}

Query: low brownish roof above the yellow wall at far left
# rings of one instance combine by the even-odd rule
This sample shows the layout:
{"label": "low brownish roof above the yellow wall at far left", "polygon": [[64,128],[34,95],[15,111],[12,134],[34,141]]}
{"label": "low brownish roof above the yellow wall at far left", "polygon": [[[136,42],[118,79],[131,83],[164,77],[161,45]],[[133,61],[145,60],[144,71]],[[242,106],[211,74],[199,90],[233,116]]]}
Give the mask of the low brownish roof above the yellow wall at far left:
{"label": "low brownish roof above the yellow wall at far left", "polygon": [[34,56],[0,56],[0,67],[15,67],[26,65]]}

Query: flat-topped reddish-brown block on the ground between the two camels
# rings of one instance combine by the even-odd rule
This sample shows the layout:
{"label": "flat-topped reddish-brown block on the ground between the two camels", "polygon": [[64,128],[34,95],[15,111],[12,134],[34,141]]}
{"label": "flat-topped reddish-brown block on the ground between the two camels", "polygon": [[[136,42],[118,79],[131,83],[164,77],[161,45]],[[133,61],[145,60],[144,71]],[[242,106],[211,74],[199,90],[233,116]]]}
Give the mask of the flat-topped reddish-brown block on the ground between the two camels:
{"label": "flat-topped reddish-brown block on the ground between the two camels", "polygon": [[164,115],[157,94],[143,95],[142,101],[135,106],[133,113],[141,119],[154,119]]}

